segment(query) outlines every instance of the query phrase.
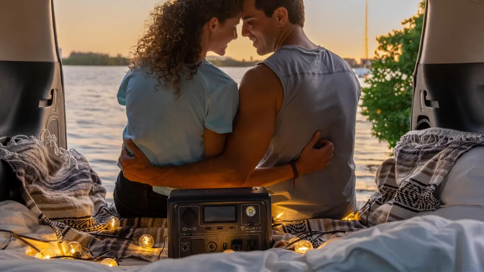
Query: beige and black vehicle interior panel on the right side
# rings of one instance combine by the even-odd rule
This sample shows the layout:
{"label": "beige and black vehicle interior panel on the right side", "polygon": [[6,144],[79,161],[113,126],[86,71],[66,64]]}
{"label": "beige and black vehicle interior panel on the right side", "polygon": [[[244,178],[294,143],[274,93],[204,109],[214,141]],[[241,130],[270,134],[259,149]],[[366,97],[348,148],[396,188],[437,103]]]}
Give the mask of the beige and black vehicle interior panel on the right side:
{"label": "beige and black vehicle interior panel on the right side", "polygon": [[484,134],[484,0],[427,0],[411,130]]}

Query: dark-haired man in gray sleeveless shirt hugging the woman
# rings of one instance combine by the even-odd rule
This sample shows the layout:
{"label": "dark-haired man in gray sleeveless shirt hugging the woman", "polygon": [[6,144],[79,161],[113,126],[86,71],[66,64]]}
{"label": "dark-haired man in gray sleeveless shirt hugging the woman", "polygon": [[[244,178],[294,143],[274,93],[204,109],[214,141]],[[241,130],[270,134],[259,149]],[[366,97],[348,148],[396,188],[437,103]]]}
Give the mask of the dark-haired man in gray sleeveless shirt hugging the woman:
{"label": "dark-haired man in gray sleeveless shirt hugging the woman", "polygon": [[[242,78],[239,113],[224,153],[185,166],[153,167],[128,141],[135,157],[121,154],[126,178],[175,188],[264,186],[272,210],[285,211],[287,221],[343,218],[356,203],[358,79],[343,59],[306,37],[303,0],[244,0],[242,19],[242,35],[257,53],[274,53]],[[331,165],[311,173],[291,162],[315,131],[333,142],[334,156]],[[275,166],[280,171],[265,171]]]}

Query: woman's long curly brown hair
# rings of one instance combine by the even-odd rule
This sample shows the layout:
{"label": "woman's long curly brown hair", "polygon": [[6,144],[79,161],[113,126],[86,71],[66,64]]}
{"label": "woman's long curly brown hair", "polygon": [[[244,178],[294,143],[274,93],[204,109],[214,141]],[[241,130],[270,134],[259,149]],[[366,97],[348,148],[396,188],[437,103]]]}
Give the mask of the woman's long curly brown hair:
{"label": "woman's long curly brown hair", "polygon": [[155,73],[157,86],[173,84],[178,95],[180,75],[192,79],[201,63],[203,26],[213,17],[223,24],[241,11],[242,0],[170,0],[156,6],[148,30],[131,52],[129,68]]}

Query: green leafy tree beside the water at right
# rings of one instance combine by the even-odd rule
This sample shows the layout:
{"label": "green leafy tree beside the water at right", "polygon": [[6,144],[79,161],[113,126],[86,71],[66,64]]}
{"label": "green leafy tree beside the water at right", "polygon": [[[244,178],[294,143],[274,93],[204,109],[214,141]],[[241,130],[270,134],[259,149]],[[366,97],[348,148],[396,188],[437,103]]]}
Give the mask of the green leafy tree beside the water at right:
{"label": "green leafy tree beside the water at right", "polygon": [[362,114],[372,122],[372,134],[395,147],[410,129],[413,72],[419,52],[425,1],[417,15],[402,22],[403,30],[393,30],[377,38],[378,48],[372,72],[362,90]]}

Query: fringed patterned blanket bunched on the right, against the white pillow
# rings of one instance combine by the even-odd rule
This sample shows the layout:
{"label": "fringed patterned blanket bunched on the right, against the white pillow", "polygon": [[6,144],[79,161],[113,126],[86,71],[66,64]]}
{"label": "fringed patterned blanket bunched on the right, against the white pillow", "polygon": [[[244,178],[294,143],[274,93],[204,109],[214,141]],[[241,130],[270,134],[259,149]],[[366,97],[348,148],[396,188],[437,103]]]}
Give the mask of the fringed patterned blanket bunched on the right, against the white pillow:
{"label": "fringed patterned blanket bunched on the right, against the white pillow", "polygon": [[357,217],[370,227],[436,211],[435,191],[457,159],[483,145],[481,134],[442,128],[409,132],[397,143],[394,157],[378,167],[378,192]]}

